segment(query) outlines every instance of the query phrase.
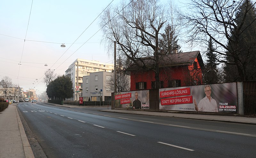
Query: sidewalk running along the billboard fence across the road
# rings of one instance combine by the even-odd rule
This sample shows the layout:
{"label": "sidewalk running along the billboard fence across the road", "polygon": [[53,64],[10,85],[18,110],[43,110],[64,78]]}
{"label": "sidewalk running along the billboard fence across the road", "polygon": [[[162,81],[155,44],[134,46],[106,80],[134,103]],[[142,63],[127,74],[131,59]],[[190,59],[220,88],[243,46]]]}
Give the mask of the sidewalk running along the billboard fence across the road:
{"label": "sidewalk running along the billboard fence across the road", "polygon": [[[57,105],[61,107],[76,107],[76,108],[87,108],[80,106],[70,106],[70,105]],[[182,113],[171,113],[171,112],[153,112],[153,111],[144,111],[144,110],[133,110],[125,108],[116,108],[111,109],[108,107],[108,110],[100,110],[106,112],[115,112],[115,113],[126,113],[126,114],[138,114],[138,115],[152,115],[152,116],[164,116],[164,117],[177,117],[177,118],[187,118],[187,119],[197,119],[197,120],[207,120],[207,121],[220,121],[220,122],[233,122],[233,123],[244,123],[244,124],[253,124],[256,125],[256,118],[252,117],[243,117],[243,116],[225,116],[225,115],[206,115],[206,114],[182,114]]]}

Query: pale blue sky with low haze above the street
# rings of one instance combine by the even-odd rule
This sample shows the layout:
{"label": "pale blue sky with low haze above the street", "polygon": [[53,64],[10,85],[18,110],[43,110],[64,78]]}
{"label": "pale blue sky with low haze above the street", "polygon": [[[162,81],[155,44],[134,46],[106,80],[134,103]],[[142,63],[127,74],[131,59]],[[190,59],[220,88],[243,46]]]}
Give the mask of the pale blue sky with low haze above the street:
{"label": "pale blue sky with low haze above the street", "polygon": [[108,4],[119,2],[0,0],[0,79],[8,76],[24,91],[33,88],[39,94],[46,90],[43,78],[49,69],[64,75],[77,58],[113,64],[114,57],[100,43],[96,18]]}

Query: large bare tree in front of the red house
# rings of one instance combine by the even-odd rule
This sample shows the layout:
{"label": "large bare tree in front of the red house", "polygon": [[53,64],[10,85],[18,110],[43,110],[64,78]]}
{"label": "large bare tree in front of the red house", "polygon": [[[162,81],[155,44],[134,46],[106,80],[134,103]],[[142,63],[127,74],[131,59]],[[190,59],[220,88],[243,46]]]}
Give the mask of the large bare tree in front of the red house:
{"label": "large bare tree in front of the red house", "polygon": [[117,53],[126,56],[138,69],[154,71],[156,88],[160,88],[159,63],[166,56],[160,53],[160,38],[168,23],[166,6],[158,0],[122,1],[109,7],[100,22],[107,47],[113,47],[116,41]]}

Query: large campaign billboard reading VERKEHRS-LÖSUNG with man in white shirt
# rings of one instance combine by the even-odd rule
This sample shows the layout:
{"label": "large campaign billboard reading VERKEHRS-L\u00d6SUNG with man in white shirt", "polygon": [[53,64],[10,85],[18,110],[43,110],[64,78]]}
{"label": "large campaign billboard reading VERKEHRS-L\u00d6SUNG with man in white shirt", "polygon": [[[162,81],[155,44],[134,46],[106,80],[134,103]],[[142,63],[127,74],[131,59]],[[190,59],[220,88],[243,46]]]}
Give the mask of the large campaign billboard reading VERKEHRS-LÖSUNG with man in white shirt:
{"label": "large campaign billboard reading VERKEHRS-L\u00d6SUNG with man in white shirt", "polygon": [[159,109],[238,113],[236,83],[159,89]]}

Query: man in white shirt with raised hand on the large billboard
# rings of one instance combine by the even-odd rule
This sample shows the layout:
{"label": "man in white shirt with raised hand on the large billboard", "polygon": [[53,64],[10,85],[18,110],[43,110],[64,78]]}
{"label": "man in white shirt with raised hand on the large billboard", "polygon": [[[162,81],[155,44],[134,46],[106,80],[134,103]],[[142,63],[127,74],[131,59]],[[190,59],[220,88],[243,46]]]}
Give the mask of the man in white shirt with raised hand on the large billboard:
{"label": "man in white shirt with raised hand on the large billboard", "polygon": [[194,99],[196,111],[218,112],[217,102],[211,97],[212,89],[210,85],[204,86],[204,93],[206,96],[199,101],[198,105],[196,99]]}

